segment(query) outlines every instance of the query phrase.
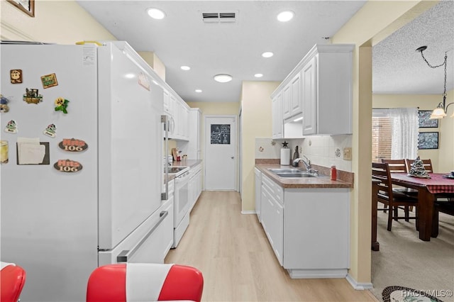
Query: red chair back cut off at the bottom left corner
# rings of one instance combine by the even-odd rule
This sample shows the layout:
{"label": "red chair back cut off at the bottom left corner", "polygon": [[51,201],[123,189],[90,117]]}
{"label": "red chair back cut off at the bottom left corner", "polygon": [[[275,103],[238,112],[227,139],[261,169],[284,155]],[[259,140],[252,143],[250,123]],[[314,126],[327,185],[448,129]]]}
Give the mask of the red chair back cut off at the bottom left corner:
{"label": "red chair back cut off at the bottom left corner", "polygon": [[1,262],[0,283],[0,301],[17,302],[26,284],[26,271],[16,264]]}

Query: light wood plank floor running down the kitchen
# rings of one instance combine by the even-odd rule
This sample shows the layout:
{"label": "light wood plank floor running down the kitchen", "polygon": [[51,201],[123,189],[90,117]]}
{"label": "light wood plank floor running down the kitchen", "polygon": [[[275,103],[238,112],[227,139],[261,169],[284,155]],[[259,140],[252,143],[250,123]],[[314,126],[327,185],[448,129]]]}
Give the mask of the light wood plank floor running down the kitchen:
{"label": "light wood plank floor running down the kitchen", "polygon": [[202,272],[202,301],[377,301],[346,279],[289,278],[257,216],[241,214],[238,192],[202,192],[189,228],[165,262]]}

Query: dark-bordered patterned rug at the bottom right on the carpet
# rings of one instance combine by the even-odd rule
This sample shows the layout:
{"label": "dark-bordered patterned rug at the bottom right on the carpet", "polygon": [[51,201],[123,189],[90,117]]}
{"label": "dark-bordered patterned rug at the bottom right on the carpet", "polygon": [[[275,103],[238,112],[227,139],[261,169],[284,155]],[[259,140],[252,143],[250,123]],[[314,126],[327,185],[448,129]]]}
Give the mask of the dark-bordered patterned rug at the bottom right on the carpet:
{"label": "dark-bordered patterned rug at the bottom right on the carpet", "polygon": [[[450,296],[450,293],[433,291],[431,294]],[[383,302],[443,302],[427,291],[417,291],[404,286],[388,286],[382,292]]]}

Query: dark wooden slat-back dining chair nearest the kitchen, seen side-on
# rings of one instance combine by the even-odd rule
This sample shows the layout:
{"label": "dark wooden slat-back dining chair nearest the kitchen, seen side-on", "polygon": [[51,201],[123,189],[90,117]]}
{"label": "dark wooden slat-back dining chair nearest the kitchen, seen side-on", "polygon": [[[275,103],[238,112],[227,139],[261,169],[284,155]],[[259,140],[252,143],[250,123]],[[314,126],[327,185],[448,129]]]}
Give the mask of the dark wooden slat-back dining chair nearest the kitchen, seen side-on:
{"label": "dark wooden slat-back dining chair nearest the kitchen, seen side-on", "polygon": [[[391,173],[389,172],[389,165],[382,162],[372,162],[372,179],[380,181],[378,184],[379,191],[376,201],[380,202],[389,207],[388,211],[388,225],[387,230],[391,230],[392,220],[409,219],[416,220],[416,227],[418,223],[418,199],[398,191],[392,190]],[[404,207],[405,216],[399,216],[399,206]],[[415,215],[410,217],[408,208],[409,206],[416,207]],[[385,209],[378,209],[378,211],[385,211]]]}

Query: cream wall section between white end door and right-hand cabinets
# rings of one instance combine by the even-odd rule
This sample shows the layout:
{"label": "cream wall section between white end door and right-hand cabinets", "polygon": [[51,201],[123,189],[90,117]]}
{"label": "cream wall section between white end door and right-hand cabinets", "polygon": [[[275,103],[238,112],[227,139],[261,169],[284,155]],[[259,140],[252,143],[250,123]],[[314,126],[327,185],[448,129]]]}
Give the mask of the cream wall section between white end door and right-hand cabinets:
{"label": "cream wall section between white end door and right-hand cabinets", "polygon": [[242,210],[255,211],[255,138],[272,135],[271,94],[280,82],[243,82],[241,89],[241,116],[243,132],[242,161]]}

